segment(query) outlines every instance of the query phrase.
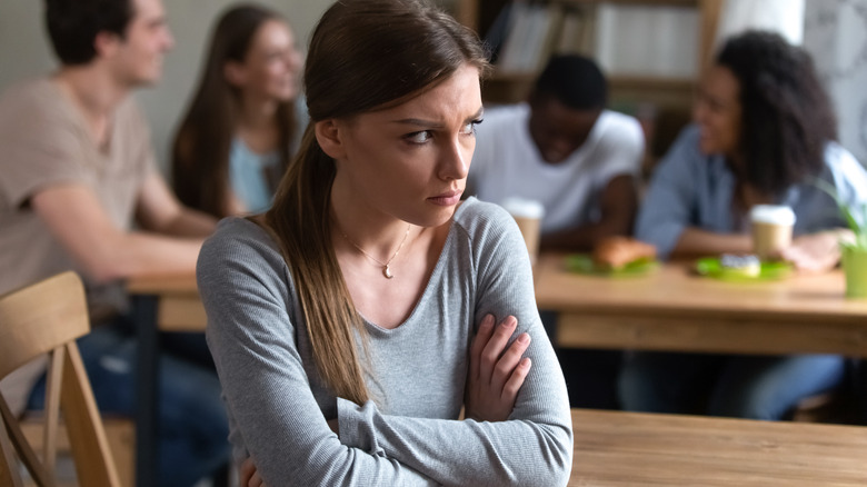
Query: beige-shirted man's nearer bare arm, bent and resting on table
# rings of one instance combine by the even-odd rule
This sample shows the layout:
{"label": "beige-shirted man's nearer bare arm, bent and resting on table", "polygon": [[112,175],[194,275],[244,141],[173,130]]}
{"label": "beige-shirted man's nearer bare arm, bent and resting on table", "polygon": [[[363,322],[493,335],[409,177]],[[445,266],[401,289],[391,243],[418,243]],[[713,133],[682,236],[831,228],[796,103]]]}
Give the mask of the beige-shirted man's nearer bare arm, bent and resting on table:
{"label": "beige-shirted man's nearer bare arm, bent and resting on table", "polygon": [[50,186],[33,193],[30,203],[70,256],[97,281],[196,269],[202,239],[124,231],[114,226],[86,186]]}

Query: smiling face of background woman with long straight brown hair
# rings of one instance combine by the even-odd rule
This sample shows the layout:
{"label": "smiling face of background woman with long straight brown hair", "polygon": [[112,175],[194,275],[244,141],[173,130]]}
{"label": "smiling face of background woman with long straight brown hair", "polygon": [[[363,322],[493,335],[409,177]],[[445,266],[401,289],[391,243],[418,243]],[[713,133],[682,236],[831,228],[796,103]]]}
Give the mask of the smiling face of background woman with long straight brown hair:
{"label": "smiling face of background woman with long straight brown hair", "polygon": [[230,62],[229,80],[246,95],[277,101],[298,96],[301,53],[285,22],[267,20],[250,42],[242,63]]}

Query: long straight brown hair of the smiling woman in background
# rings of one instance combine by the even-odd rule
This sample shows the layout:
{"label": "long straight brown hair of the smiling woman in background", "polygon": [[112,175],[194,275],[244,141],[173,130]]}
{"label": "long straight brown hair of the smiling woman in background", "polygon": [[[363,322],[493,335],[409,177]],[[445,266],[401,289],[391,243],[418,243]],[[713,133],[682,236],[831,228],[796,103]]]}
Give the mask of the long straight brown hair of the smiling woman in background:
{"label": "long straight brown hair of the smiling woman in background", "polygon": [[[275,19],[281,20],[278,13],[253,4],[235,7],[220,17],[199,88],[172,145],[172,183],[178,199],[218,218],[228,212],[229,151],[240,113],[239,89],[226,80],[223,70],[229,61],[243,62],[256,32]],[[295,102],[280,102],[276,118],[278,171],[266,173],[271,187],[289,166],[297,130]]]}

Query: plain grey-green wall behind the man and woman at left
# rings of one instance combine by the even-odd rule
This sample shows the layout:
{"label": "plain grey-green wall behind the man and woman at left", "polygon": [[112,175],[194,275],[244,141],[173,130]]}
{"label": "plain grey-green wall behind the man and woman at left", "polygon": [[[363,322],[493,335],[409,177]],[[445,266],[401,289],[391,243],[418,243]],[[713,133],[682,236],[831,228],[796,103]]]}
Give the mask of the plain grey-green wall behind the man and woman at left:
{"label": "plain grey-green wall behind the man and woman at left", "polygon": [[[289,19],[299,44],[307,44],[331,0],[258,0]],[[163,0],[176,47],[166,59],[162,81],[136,96],[151,122],[157,158],[163,169],[168,145],[199,76],[201,57],[217,16],[235,0]],[[0,91],[57,64],[42,22],[42,0],[0,0]]]}

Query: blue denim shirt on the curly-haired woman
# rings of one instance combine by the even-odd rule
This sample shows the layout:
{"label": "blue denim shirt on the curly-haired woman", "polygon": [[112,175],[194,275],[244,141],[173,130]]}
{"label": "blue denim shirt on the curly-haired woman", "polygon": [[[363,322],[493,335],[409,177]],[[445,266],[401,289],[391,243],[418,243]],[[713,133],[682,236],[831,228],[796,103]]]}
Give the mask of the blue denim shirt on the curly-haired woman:
{"label": "blue denim shirt on the curly-haired woman", "polygon": [[[650,180],[636,222],[636,237],[657,247],[666,259],[687,227],[719,233],[749,231],[746,216],[733,211],[735,176],[721,155],[706,156],[698,146],[697,126],[680,133]],[[825,148],[819,179],[833,185],[839,199],[865,218],[867,171],[836,142]],[[794,233],[846,227],[836,201],[814,180],[788,188],[777,205],[795,211]]]}

